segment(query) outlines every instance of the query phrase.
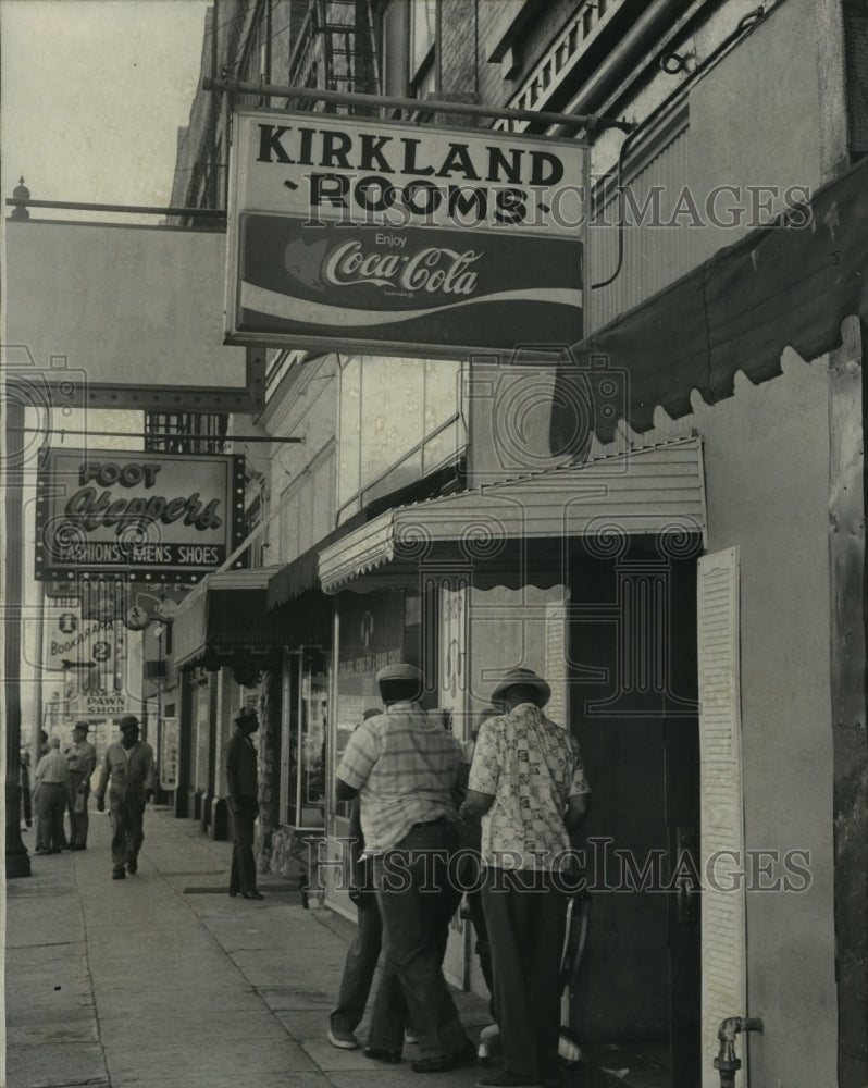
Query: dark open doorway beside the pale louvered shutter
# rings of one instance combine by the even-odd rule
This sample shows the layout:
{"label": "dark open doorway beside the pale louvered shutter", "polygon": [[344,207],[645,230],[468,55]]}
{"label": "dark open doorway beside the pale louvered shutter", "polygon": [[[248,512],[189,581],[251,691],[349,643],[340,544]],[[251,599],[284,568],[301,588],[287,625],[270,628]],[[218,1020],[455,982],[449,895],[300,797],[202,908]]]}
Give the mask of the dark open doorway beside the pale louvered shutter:
{"label": "dark open doorway beside the pale louvered shutter", "polygon": [[696,567],[656,548],[571,564],[570,707],[593,794],[571,1022],[634,1088],[699,1080]]}

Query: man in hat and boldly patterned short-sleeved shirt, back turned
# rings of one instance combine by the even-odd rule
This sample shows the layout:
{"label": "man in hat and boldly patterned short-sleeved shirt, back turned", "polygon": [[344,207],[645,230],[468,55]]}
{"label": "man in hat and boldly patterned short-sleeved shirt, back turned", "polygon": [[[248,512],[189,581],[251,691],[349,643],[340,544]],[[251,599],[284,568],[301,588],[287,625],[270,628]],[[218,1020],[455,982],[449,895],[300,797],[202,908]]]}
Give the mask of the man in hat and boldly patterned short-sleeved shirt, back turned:
{"label": "man in hat and boldly patterned short-sleeved shirt, back turned", "polygon": [[492,692],[506,713],[480,727],[462,819],[482,816],[482,903],[494,972],[504,1070],[480,1088],[558,1083],[567,901],[554,874],[587,811],[579,745],[544,714],[551,689],[510,669]]}

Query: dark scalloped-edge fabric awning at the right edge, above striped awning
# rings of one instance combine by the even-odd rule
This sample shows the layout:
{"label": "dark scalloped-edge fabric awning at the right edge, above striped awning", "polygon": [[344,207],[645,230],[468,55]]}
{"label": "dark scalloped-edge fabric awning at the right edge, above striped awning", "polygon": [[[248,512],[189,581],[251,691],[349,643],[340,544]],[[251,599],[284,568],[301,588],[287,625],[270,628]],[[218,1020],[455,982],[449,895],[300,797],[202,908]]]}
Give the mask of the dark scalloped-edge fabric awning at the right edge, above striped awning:
{"label": "dark scalloped-edge fabric awning at the right edge, above striped awning", "polygon": [[[852,314],[868,321],[868,159],[819,189],[789,222],[753,231],[641,306],[572,348],[575,364],[558,370],[549,443],[574,452],[588,363],[606,357],[625,370],[623,412],[649,431],[660,405],[678,419],[697,390],[708,404],[732,396],[735,373],[755,384],[781,373],[788,346],[816,359],[841,343]],[[594,398],[593,429],[611,440],[618,419]]]}

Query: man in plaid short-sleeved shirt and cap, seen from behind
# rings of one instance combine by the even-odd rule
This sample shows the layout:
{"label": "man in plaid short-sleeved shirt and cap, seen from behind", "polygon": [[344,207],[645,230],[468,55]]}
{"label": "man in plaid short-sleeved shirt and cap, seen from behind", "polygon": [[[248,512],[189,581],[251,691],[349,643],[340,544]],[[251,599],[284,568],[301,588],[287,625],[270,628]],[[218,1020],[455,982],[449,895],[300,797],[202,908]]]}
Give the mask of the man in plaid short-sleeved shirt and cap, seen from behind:
{"label": "man in plaid short-sleeved shirt and cap, seen from behind", "polygon": [[441,970],[458,905],[447,867],[461,745],[420,705],[414,666],[388,665],[376,682],[385,713],[359,726],[337,768],[337,800],[359,796],[386,936],[364,1055],[399,1062],[409,1017],[422,1055],[413,1070],[442,1073],[475,1058]]}

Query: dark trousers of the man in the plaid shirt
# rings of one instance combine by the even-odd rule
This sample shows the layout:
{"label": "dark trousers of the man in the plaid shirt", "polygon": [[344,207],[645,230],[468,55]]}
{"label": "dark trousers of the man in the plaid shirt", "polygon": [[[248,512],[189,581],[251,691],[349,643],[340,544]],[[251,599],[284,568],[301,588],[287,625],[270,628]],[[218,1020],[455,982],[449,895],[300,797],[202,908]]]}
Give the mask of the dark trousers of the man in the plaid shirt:
{"label": "dark trousers of the man in the plaid shirt", "polygon": [[374,857],[386,957],[369,1047],[400,1052],[408,1017],[425,1058],[448,1058],[469,1044],[441,969],[460,897],[447,874],[454,849],[455,832],[437,820],[413,825],[394,850]]}

